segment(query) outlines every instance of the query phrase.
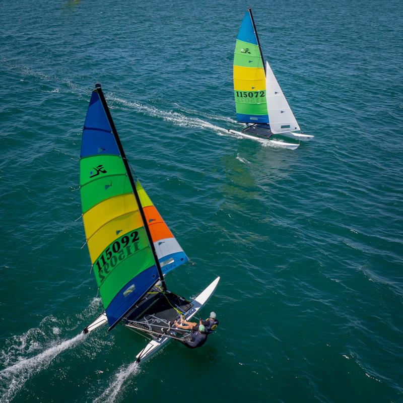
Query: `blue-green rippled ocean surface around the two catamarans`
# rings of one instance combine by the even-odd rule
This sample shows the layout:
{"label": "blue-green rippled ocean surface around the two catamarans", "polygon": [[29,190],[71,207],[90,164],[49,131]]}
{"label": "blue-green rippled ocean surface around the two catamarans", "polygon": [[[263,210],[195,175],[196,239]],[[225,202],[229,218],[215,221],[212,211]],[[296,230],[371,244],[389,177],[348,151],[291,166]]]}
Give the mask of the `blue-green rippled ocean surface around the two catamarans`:
{"label": "blue-green rippled ocean surface around the two catamarans", "polygon": [[[303,131],[225,133],[251,6]],[[0,1],[0,401],[403,401],[398,0]],[[200,349],[101,311],[80,218],[81,130],[100,82],[132,169],[192,260],[167,275],[219,329]]]}

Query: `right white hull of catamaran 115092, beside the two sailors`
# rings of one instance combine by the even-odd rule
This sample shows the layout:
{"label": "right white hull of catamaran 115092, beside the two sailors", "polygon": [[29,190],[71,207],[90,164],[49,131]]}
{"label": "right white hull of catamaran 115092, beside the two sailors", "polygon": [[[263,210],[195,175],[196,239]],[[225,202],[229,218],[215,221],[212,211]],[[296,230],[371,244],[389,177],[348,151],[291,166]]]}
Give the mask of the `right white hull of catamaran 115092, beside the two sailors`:
{"label": "right white hull of catamaran 115092, beside the two sailors", "polygon": [[[210,297],[214,294],[214,291],[217,288],[218,282],[220,281],[220,277],[217,277],[216,280],[213,281],[203,292],[201,292],[191,303],[193,307],[186,312],[185,319],[189,320],[192,318],[201,307],[203,307],[209,301]],[[127,326],[130,327],[130,326]],[[151,356],[153,356],[157,351],[159,351],[163,346],[165,346],[171,338],[167,336],[161,336],[157,340],[152,340],[137,356],[137,361],[145,361],[148,360]]]}

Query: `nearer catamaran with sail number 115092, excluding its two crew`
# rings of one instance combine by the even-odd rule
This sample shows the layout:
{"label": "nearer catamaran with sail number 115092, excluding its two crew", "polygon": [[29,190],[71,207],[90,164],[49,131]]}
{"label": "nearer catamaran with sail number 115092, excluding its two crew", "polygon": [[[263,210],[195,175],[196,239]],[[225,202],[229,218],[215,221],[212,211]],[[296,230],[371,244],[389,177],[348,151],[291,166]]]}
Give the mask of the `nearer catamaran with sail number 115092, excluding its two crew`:
{"label": "nearer catamaran with sail number 115092, excluding its two crew", "polygon": [[187,337],[175,320],[193,317],[220,278],[192,301],[168,291],[164,276],[188,257],[133,177],[100,84],[91,95],[80,157],[86,243],[105,310],[83,333],[123,324],[150,339],[136,356],[144,361],[170,340]]}

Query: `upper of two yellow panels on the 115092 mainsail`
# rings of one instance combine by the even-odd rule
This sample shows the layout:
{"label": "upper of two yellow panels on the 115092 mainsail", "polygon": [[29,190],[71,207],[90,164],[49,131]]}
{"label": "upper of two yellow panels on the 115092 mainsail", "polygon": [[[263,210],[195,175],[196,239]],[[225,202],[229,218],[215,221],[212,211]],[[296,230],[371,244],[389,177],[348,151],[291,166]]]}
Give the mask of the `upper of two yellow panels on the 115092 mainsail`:
{"label": "upper of two yellow panels on the 115092 mainsail", "polygon": [[[138,210],[133,193],[120,194],[103,200],[83,215],[86,239],[91,238],[99,228],[114,218]],[[108,243],[105,243],[105,247],[107,245]]]}

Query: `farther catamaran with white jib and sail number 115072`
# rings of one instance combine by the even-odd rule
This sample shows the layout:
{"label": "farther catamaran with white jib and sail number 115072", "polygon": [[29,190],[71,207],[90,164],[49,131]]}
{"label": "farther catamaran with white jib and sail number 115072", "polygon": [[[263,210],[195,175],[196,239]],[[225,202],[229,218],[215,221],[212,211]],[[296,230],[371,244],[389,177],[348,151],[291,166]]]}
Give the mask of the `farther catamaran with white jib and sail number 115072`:
{"label": "farther catamaran with white jib and sail number 115072", "polygon": [[[243,17],[235,45],[234,96],[237,121],[245,127],[241,131],[228,129],[230,133],[292,150],[299,141],[313,139],[295,132],[301,130],[298,122],[270,65],[267,61],[263,64],[251,9]],[[298,140],[298,144],[273,140],[273,135]]]}

